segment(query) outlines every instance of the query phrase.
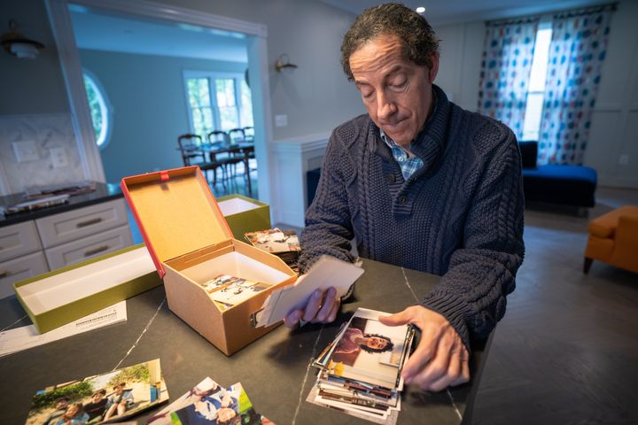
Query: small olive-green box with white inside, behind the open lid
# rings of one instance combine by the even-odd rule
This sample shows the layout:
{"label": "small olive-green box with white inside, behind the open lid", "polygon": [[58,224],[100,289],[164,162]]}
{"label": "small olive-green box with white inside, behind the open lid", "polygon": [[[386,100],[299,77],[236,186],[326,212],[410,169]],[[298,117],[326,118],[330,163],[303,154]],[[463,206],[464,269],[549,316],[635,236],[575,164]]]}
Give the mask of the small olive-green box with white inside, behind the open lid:
{"label": "small olive-green box with white inside, behind the open lid", "polygon": [[227,195],[217,198],[235,239],[245,242],[244,234],[271,228],[268,204],[241,195]]}

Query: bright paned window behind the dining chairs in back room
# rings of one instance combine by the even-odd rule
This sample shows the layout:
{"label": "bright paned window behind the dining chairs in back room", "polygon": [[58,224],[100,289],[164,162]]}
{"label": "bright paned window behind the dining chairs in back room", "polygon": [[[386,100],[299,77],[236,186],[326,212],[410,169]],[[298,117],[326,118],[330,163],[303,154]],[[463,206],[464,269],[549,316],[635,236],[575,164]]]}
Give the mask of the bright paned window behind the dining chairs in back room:
{"label": "bright paned window behind the dining chairs in back room", "polygon": [[253,127],[251,91],[242,73],[184,73],[191,132]]}

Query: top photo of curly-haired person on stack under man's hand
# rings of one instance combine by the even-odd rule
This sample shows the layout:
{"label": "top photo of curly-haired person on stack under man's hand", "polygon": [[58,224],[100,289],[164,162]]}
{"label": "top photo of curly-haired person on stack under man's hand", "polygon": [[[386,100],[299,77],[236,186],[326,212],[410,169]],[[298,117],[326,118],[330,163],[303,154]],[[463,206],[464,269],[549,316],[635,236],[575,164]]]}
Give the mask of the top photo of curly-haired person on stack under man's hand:
{"label": "top photo of curly-haired person on stack under man's hand", "polygon": [[405,356],[409,325],[385,326],[378,312],[358,310],[328,357],[329,373],[394,389]]}

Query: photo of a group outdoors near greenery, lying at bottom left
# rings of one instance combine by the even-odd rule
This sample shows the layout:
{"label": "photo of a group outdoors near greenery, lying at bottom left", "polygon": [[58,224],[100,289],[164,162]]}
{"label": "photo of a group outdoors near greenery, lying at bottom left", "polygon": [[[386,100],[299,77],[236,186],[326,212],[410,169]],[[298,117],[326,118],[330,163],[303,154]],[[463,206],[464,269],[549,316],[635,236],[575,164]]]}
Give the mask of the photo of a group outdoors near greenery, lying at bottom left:
{"label": "photo of a group outdoors near greenery, lying at bottom left", "polygon": [[27,425],[113,423],[168,400],[159,359],[35,393]]}

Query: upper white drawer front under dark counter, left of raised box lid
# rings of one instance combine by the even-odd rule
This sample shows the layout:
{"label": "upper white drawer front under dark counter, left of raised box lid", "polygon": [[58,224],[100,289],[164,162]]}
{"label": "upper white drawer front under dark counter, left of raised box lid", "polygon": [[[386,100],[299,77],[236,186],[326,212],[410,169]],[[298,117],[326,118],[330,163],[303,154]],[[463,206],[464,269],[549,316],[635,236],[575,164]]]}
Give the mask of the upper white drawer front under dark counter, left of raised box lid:
{"label": "upper white drawer front under dark counter, left of raised box lid", "polygon": [[46,249],[128,224],[128,216],[124,199],[115,199],[44,217],[35,224]]}

